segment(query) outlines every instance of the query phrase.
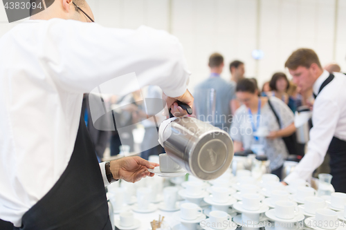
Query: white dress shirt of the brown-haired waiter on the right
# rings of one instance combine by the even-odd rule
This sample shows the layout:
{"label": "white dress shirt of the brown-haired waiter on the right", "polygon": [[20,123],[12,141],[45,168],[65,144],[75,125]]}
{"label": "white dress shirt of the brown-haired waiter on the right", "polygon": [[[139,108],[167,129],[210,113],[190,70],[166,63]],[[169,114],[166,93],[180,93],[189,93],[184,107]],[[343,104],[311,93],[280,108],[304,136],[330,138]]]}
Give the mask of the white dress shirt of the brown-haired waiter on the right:
{"label": "white dress shirt of the brown-haired waiter on the right", "polygon": [[310,140],[307,153],[295,170],[284,181],[289,184],[297,178],[309,180],[315,169],[322,164],[331,139],[335,136],[346,140],[346,77],[342,73],[333,73],[334,79],[322,89],[320,86],[329,73],[325,70],[313,84],[313,93],[318,95],[313,104]]}

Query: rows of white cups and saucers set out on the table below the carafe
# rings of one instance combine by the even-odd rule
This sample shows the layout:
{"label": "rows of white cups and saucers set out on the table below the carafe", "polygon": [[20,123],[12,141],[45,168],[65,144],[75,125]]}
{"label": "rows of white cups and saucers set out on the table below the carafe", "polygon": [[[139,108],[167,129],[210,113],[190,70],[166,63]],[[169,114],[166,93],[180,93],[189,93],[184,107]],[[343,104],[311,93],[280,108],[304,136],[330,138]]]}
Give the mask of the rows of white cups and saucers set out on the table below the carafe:
{"label": "rows of white cups and saucers set out on the table below the carafe", "polygon": [[[281,230],[297,228],[297,223],[304,220],[305,227],[334,230],[343,227],[339,220],[346,220],[345,193],[332,193],[329,198],[319,198],[304,180],[296,180],[289,186],[284,186],[273,174],[264,174],[258,181],[246,170],[237,171],[237,176],[227,171],[210,182],[203,182],[192,176],[186,182],[182,182],[183,178],[174,178],[171,181],[176,185],[165,188],[162,178],[155,176],[148,179],[145,185],[143,182],[135,185],[123,183],[120,188],[111,189],[110,200],[113,201],[115,211],[125,211],[126,215],[130,215],[126,212],[128,209],[116,208],[126,207],[126,204],[120,204],[121,200],[126,200],[127,204],[136,202],[132,205],[133,211],[142,213],[156,211],[157,208],[176,211],[173,216],[181,222],[177,229],[196,229],[197,224],[210,230],[231,230],[237,225],[243,229],[270,229],[265,223],[271,220],[275,222],[275,230]],[[125,197],[131,194],[131,198],[124,199],[119,196],[121,193]],[[181,198],[186,202],[179,203]],[[158,206],[154,202],[159,202]],[[205,204],[211,205],[211,209],[202,209]],[[237,215],[235,212],[241,214]],[[122,215],[122,228],[119,229],[130,229],[126,225],[134,223],[131,218],[122,222],[121,219]],[[318,224],[321,222],[329,224],[321,226]],[[282,227],[276,223],[293,223],[294,226]]]}

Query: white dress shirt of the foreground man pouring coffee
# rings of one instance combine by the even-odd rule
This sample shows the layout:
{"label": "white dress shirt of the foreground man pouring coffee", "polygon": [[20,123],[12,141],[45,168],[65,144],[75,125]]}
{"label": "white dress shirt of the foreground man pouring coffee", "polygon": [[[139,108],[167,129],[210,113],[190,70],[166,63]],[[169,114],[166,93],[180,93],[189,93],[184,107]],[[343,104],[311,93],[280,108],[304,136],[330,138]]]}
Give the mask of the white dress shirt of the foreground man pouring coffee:
{"label": "white dress shirt of the foreground man pouring coffee", "polygon": [[[160,86],[177,97],[190,75],[178,39],[145,26],[28,21],[1,37],[0,50],[0,218],[16,227],[69,163],[82,93],[136,73],[140,87]],[[114,94],[138,89],[133,85],[118,86]]]}

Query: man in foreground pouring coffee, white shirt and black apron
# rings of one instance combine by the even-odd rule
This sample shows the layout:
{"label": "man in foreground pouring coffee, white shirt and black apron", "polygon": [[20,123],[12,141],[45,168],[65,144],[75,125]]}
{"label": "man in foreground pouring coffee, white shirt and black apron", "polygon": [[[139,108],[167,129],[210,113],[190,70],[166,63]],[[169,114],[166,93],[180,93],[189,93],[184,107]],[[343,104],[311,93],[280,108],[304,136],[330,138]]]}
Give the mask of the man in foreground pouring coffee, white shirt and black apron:
{"label": "man in foreground pouring coffee, white shirt and black apron", "polygon": [[[183,49],[164,31],[89,23],[84,0],[55,0],[30,19],[0,39],[0,219],[23,230],[111,229],[104,185],[152,176],[156,164],[99,165],[80,119],[83,93],[135,73],[140,88],[160,86],[167,108],[185,115],[176,104],[193,103]],[[113,93],[135,85],[120,81]]]}

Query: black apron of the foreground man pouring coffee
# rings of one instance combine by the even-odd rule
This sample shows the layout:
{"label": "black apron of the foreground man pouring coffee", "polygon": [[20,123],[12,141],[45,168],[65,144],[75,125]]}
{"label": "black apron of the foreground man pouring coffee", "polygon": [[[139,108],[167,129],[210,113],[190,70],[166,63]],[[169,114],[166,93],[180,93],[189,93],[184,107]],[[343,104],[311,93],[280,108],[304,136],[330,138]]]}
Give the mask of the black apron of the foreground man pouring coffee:
{"label": "black apron of the foreground man pouring coffee", "polygon": [[100,166],[84,120],[64,173],[16,230],[111,230]]}

